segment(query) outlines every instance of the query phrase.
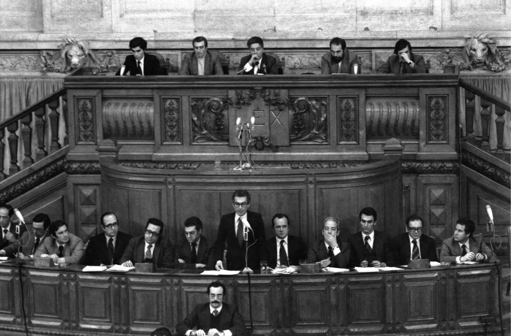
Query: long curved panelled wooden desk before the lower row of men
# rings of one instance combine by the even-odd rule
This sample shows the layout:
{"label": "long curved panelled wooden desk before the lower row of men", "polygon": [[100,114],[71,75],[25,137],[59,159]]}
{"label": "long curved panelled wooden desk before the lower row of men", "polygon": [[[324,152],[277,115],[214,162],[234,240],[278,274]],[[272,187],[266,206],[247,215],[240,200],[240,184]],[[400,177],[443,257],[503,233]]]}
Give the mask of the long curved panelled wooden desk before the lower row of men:
{"label": "long curved panelled wooden desk before the lower row of men", "polygon": [[[27,323],[32,334],[144,334],[173,328],[206,286],[220,280],[225,301],[236,303],[249,323],[249,288],[255,334],[482,333],[480,319],[498,327],[497,268],[457,265],[380,273],[201,276],[164,273],[83,273],[21,269]],[[0,267],[0,333],[24,332],[17,266]]]}

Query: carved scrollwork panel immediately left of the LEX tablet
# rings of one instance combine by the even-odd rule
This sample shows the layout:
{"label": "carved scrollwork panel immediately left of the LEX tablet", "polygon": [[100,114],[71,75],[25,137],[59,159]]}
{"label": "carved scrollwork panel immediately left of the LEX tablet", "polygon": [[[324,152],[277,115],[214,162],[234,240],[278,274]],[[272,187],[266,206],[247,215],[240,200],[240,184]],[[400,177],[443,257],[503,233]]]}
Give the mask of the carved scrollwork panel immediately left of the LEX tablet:
{"label": "carved scrollwork panel immediately left of the LEX tablet", "polygon": [[229,141],[226,98],[192,98],[190,106],[193,142]]}

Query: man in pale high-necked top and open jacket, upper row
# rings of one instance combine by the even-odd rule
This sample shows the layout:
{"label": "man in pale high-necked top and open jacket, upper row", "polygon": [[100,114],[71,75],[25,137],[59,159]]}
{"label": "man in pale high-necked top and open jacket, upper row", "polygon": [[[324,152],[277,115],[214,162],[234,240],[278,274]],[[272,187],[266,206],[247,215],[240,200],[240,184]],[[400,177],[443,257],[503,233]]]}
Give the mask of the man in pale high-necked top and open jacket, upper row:
{"label": "man in pale high-necked top and open jacket, upper row", "polygon": [[197,36],[192,45],[194,51],[184,56],[178,75],[223,75],[220,57],[207,51],[205,37]]}

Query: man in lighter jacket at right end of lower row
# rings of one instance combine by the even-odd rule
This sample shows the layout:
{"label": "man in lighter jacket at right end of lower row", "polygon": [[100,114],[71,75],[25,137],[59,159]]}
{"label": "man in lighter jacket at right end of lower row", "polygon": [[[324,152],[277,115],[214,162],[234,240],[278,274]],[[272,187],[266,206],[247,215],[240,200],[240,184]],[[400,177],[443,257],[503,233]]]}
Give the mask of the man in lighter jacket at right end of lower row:
{"label": "man in lighter jacket at right end of lower row", "polygon": [[493,256],[483,242],[482,234],[474,235],[476,225],[469,219],[459,219],[456,222],[454,235],[445,239],[440,250],[440,261],[490,261]]}

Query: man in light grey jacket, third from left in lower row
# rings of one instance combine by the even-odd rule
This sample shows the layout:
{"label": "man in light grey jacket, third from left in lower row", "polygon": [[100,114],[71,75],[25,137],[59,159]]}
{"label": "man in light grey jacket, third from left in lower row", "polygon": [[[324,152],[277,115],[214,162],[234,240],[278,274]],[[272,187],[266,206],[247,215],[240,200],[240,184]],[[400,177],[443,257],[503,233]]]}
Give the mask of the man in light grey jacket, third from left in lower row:
{"label": "man in light grey jacket, third from left in lower row", "polygon": [[34,257],[51,258],[58,264],[80,263],[83,256],[82,239],[67,231],[67,224],[55,221],[48,227],[50,236],[39,245]]}

